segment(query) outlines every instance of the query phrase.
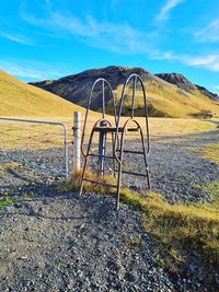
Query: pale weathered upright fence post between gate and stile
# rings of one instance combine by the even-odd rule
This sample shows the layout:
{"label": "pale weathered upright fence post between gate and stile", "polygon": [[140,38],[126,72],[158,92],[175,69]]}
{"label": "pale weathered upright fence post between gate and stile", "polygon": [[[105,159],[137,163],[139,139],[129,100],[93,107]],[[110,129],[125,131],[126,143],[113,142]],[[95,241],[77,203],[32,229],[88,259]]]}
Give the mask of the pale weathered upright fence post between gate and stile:
{"label": "pale weathered upright fence post between gate and stile", "polygon": [[73,113],[73,171],[81,168],[81,113]]}

